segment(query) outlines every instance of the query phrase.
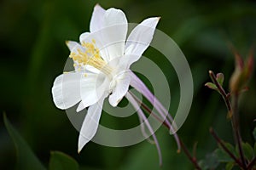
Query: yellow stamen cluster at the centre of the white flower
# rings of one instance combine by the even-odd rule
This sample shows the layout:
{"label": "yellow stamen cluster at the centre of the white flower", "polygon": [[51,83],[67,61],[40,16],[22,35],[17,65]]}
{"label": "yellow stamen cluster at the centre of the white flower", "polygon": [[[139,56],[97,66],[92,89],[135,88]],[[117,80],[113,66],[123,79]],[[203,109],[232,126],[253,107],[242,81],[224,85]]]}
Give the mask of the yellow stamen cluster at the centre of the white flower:
{"label": "yellow stamen cluster at the centre of the white flower", "polygon": [[76,61],[79,66],[91,65],[102,71],[104,74],[109,75],[113,69],[102,59],[99,48],[96,48],[96,41],[92,39],[91,42],[82,42],[84,51],[78,48],[77,53],[72,52],[69,57]]}

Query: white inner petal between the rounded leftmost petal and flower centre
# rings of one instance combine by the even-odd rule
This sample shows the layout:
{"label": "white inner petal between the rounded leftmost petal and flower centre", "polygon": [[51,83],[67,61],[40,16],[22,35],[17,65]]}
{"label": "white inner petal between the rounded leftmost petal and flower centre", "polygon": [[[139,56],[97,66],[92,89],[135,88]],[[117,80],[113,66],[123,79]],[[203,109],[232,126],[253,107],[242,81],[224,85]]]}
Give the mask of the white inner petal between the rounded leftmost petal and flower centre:
{"label": "white inner petal between the rounded leftmost petal and flower centre", "polygon": [[[103,75],[89,74],[85,77],[86,81],[81,82],[81,98],[77,112],[85,107],[96,104],[109,87],[108,78]],[[85,80],[84,79],[84,80]]]}

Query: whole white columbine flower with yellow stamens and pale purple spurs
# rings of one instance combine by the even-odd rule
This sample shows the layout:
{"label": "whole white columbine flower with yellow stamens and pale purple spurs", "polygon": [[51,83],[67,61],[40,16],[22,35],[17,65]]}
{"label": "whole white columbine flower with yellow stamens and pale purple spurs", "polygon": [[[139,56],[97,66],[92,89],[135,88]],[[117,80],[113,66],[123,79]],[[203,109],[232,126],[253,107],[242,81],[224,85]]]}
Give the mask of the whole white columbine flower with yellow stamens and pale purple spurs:
{"label": "whole white columbine flower with yellow stamens and pale purple spurs", "polygon": [[[159,17],[143,20],[126,39],[128,23],[125,14],[116,8],[105,10],[96,5],[90,20],[90,32],[79,37],[80,43],[67,42],[74,71],[55,78],[52,94],[55,105],[62,110],[78,103],[77,111],[89,107],[80,129],[79,151],[96,134],[104,99],[108,97],[110,105],[115,107],[125,96],[137,108],[138,116],[147,125],[160,154],[147,117],[137,105],[135,96],[128,92],[130,85],[136,88],[154,104],[160,116],[166,118],[168,112],[129,69],[148,48],[159,20]],[[172,117],[168,117],[172,121]],[[171,123],[166,122],[171,127]]]}

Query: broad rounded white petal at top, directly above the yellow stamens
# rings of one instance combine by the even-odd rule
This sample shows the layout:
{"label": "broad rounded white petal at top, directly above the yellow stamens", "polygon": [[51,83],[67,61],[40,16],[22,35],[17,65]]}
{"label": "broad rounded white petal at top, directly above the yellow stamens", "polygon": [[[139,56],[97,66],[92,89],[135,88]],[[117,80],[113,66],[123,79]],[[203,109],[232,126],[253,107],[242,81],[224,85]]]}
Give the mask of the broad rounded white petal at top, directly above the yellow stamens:
{"label": "broad rounded white petal at top, directly above the yellow stamens", "polygon": [[120,9],[109,8],[104,14],[102,41],[108,48],[107,61],[120,57],[125,52],[125,38],[128,24],[125,14]]}

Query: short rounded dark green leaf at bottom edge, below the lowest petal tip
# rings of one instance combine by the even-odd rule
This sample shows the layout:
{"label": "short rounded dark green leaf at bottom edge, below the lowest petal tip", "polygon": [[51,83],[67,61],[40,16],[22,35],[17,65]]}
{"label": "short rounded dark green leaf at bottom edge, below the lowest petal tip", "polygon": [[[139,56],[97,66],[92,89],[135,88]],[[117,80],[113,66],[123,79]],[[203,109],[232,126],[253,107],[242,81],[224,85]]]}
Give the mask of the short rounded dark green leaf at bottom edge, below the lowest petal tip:
{"label": "short rounded dark green leaf at bottom edge, below the lowest petal tip", "polygon": [[51,151],[49,170],[79,170],[79,164],[67,154],[60,151]]}

